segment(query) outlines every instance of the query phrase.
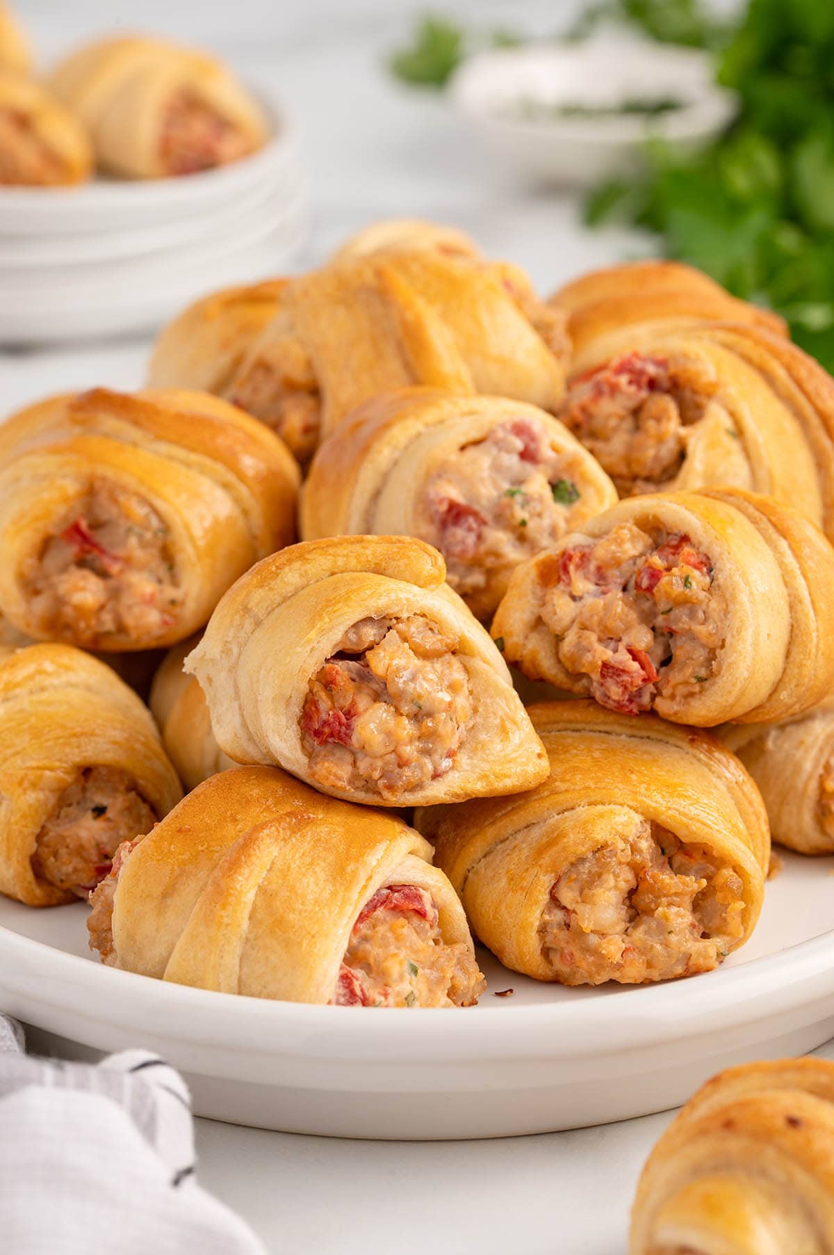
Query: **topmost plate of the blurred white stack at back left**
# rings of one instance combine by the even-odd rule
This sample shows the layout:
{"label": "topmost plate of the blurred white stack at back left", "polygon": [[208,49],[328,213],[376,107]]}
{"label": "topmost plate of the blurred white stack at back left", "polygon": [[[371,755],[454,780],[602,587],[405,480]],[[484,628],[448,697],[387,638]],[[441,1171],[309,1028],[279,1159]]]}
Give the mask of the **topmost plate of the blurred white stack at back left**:
{"label": "topmost plate of the blurred white stack at back left", "polygon": [[256,89],[272,124],[258,152],[218,169],[181,178],[107,179],[69,188],[0,188],[0,236],[54,236],[129,231],[183,222],[233,206],[297,161],[297,136],[287,107]]}

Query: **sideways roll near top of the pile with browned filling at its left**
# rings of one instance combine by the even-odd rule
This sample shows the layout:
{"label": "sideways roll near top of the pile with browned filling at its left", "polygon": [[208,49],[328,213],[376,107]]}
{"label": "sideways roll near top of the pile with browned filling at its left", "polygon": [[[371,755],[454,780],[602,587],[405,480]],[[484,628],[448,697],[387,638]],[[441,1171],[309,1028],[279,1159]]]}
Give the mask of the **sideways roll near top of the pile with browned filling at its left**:
{"label": "sideways roll near top of the pile with browned filling at its left", "polygon": [[414,384],[556,409],[563,356],[562,320],[520,271],[391,247],[288,284],[227,395],[305,462],[362,402]]}

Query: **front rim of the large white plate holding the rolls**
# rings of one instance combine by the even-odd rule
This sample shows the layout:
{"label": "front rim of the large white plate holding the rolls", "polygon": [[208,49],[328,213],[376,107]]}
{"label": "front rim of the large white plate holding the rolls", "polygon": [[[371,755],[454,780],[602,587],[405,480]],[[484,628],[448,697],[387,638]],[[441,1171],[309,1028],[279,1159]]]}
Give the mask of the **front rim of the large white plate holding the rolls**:
{"label": "front rim of the large white plate holding the rolls", "polygon": [[[4,993],[26,996],[28,980],[46,975],[51,994],[48,999],[38,995],[38,999],[54,1009],[78,1008],[78,990],[83,989],[108,1001],[112,1025],[132,1027],[138,1022],[156,1025],[162,1013],[166,1032],[183,1044],[231,1053],[243,1048],[248,1054],[272,1058],[295,1055],[304,1048],[311,1063],[336,1058],[365,1064],[383,1058],[395,1058],[398,1064],[428,1059],[435,1064],[498,1059],[505,1063],[519,1059],[557,1062],[584,1054],[589,1042],[593,1042],[597,1058],[622,1057],[657,1045],[660,1034],[663,1040],[696,1042],[706,1034],[773,1020],[779,1014],[819,1001],[826,993],[834,994],[833,960],[834,929],[775,954],[697,978],[611,991],[618,999],[630,995],[627,1005],[617,1005],[616,1017],[612,1017],[611,995],[583,998],[584,990],[577,990],[578,996],[571,1001],[514,1008],[512,1003],[502,1007],[488,1003],[493,1017],[488,1033],[483,1017],[475,1019],[467,1009],[449,1015],[441,1008],[420,1008],[418,1017],[380,1017],[374,1020],[374,1032],[369,1033],[366,1018],[359,1014],[364,1008],[336,1010],[327,1005],[178,985],[95,964],[0,924],[0,990]],[[694,980],[697,983],[695,989]],[[824,988],[809,991],[809,981],[821,983]],[[696,990],[700,990],[697,995]],[[228,1015],[232,1005],[235,1014]],[[150,1020],[145,1018],[149,1010],[153,1012]],[[92,1012],[92,1005],[84,1007],[88,1018]],[[334,1014],[339,1014],[337,1022]],[[616,1020],[615,1034],[611,1034],[612,1019]],[[332,1032],[336,1023],[337,1034]],[[436,1032],[439,1024],[444,1025],[441,1034]],[[558,1032],[548,1033],[548,1029]]]}

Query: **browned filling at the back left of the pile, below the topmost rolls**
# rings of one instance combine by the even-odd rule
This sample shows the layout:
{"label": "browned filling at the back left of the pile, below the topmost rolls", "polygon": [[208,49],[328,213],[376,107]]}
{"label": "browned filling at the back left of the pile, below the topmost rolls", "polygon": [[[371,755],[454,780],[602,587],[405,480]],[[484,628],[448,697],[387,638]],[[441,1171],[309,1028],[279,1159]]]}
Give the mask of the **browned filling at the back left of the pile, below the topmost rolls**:
{"label": "browned filling at the back left of the pile, below the topmost rolls", "polygon": [[241,371],[228,400],[271,427],[301,462],[319,443],[321,394],[312,363],[287,328],[272,328],[270,343]]}

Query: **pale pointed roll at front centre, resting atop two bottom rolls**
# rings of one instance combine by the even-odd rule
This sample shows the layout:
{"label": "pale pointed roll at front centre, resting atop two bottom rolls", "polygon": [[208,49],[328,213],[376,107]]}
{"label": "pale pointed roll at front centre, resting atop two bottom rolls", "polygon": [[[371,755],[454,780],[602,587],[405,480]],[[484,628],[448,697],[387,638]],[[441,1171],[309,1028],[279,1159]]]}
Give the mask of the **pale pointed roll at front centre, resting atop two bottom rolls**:
{"label": "pale pointed roll at front centre, resting atop two bottom rolls", "polygon": [[444,575],[405,536],[309,541],[253,566],[186,659],[219,747],[381,806],[543,779],[509,671]]}

